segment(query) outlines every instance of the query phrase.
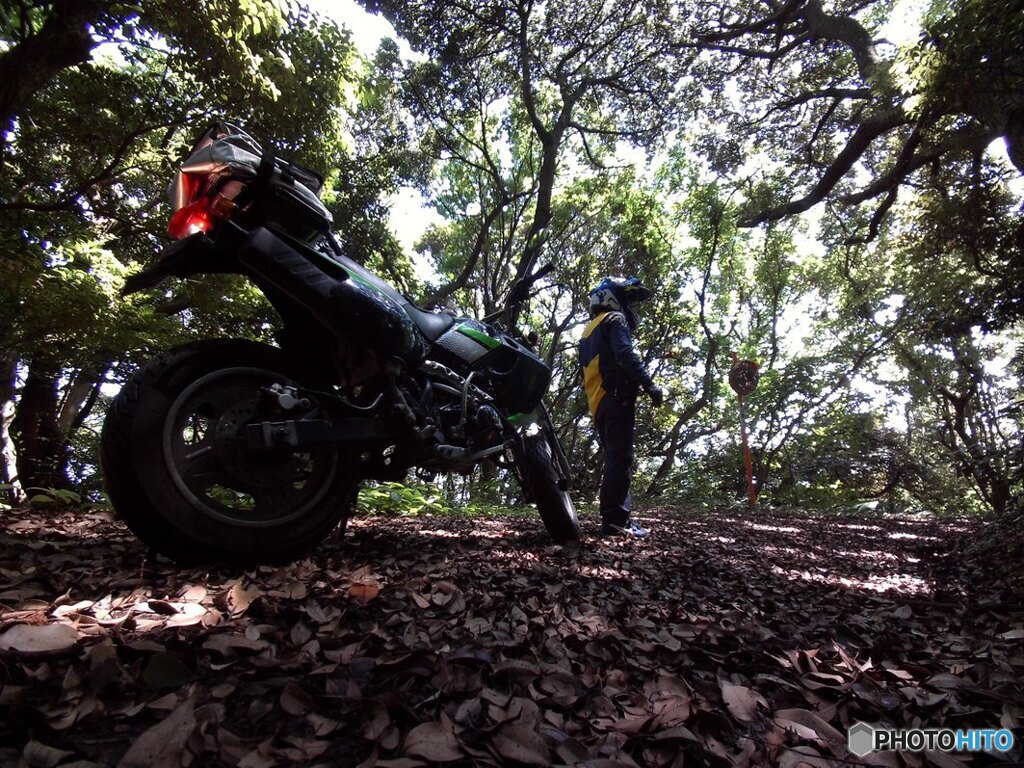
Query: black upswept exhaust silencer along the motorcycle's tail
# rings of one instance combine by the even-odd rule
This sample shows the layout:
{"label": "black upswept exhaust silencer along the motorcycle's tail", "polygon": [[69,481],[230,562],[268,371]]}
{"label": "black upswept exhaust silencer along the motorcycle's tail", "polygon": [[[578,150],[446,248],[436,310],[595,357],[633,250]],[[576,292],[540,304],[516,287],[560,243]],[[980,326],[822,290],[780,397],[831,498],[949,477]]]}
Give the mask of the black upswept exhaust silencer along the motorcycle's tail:
{"label": "black upswept exhaust silencer along the motorcycle's tail", "polygon": [[426,356],[419,329],[398,302],[352,280],[343,264],[314,251],[306,255],[306,250],[300,252],[261,226],[246,236],[238,259],[331,332],[367,339],[369,346],[400,357]]}

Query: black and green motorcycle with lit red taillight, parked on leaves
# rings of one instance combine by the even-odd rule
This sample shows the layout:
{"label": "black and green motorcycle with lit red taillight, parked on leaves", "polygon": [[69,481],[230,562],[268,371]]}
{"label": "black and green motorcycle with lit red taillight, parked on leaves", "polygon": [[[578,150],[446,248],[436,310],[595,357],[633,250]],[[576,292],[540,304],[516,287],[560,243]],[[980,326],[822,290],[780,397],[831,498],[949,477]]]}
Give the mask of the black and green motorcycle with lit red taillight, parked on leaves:
{"label": "black and green motorcycle with lit red taillight, parked on leaves", "polygon": [[556,543],[579,539],[543,402],[551,369],[509,323],[552,266],[482,319],[426,311],[345,255],[322,183],[227,123],[182,164],[169,190],[175,242],[124,293],[172,275],[244,275],[281,317],[278,346],[198,341],[131,376],[100,442],[121,519],[178,561],[289,561],[343,528],[368,480],[493,462]]}

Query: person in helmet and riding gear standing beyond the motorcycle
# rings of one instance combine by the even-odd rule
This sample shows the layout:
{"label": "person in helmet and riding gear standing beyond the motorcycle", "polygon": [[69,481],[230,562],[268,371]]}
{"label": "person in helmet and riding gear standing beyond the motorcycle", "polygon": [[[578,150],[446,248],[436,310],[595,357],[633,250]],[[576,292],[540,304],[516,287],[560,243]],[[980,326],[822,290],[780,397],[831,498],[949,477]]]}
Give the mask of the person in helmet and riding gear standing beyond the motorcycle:
{"label": "person in helmet and riding gear standing beyond the motorcycle", "polygon": [[590,292],[591,322],[580,341],[587,404],[604,449],[601,536],[647,536],[630,517],[637,394],[643,389],[656,408],[665,400],[665,392],[633,346],[637,316],[632,304],[650,297],[650,289],[637,278],[605,278]]}

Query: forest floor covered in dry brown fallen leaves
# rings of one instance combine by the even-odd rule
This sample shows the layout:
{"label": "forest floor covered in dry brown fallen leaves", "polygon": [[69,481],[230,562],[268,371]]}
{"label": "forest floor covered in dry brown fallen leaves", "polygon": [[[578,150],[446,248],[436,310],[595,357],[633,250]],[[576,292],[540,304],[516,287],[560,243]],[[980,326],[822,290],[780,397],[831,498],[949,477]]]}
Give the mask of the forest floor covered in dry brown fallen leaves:
{"label": "forest floor covered in dry brown fallen leaves", "polygon": [[210,570],[103,512],[2,514],[2,766],[979,766],[847,728],[1024,722],[1020,540],[976,522],[656,509],[561,548],[367,517]]}

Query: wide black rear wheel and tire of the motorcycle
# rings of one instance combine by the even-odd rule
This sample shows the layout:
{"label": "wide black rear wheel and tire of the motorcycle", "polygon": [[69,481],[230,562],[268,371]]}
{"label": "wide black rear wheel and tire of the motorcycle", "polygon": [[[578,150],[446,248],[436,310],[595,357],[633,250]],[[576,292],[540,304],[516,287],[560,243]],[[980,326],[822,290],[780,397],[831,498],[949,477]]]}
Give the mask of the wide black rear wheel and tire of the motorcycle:
{"label": "wide black rear wheel and tire of the motorcycle", "polygon": [[[261,386],[325,387],[322,378],[282,349],[242,339],[200,341],[152,359],[118,393],[103,423],[100,464],[120,518],[154,550],[184,563],[289,562],[308,554],[343,528],[358,478],[331,444],[253,454],[245,424],[260,420]],[[187,462],[199,454],[202,471],[189,476]]]}

